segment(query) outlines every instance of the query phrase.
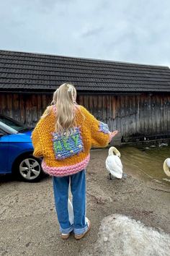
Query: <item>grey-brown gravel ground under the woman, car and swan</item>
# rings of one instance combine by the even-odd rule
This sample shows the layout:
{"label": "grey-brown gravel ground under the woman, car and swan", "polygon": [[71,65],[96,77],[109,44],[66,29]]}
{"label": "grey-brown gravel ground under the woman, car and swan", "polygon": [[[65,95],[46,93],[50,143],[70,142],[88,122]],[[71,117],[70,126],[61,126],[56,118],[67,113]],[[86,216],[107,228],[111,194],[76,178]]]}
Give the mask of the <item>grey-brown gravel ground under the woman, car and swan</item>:
{"label": "grey-brown gravel ground under the woman, car and swan", "polygon": [[[87,216],[91,231],[84,239],[60,238],[52,179],[29,184],[0,177],[0,255],[80,255],[94,247],[102,219],[130,216],[158,231],[170,232],[170,187],[143,179],[126,168],[127,179],[109,180],[107,150],[91,152],[87,168]],[[123,163],[123,158],[122,158]]]}

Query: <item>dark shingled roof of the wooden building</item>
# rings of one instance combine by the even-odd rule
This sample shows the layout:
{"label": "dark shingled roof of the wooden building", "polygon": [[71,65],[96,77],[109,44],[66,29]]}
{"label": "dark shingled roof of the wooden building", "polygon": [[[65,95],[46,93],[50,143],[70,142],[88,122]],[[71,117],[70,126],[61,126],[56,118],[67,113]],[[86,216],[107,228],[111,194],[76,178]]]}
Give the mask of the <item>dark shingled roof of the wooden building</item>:
{"label": "dark shingled roof of the wooden building", "polygon": [[170,92],[169,67],[0,51],[0,90],[50,91],[72,82],[80,92]]}

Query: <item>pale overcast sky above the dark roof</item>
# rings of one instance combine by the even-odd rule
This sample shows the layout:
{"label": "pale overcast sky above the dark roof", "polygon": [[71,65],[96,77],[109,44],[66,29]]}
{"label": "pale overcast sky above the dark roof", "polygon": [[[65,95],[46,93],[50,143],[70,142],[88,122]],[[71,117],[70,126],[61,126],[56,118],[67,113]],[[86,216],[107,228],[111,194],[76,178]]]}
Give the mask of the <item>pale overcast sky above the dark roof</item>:
{"label": "pale overcast sky above the dark roof", "polygon": [[0,49],[170,66],[170,1],[0,1],[0,35]]}

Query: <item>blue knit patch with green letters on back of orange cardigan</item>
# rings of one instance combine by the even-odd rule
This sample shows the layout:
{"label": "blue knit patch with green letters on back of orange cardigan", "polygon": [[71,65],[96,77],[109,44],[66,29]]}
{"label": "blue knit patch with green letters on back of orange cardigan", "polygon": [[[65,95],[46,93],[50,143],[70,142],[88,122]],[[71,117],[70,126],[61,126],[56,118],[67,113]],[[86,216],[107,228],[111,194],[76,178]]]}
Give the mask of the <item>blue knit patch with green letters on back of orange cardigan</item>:
{"label": "blue knit patch with green letters on back of orange cardigan", "polygon": [[83,149],[83,141],[79,127],[75,127],[71,135],[60,135],[53,132],[53,150],[55,158],[61,160],[79,154]]}

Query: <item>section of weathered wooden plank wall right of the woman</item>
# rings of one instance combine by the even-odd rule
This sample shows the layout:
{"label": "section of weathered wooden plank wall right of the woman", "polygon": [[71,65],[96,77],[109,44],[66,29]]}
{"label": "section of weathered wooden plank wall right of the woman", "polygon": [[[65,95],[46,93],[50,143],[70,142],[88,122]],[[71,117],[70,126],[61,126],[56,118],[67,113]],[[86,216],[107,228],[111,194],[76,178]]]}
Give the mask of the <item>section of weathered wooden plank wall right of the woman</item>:
{"label": "section of weathered wooden plank wall right of the woman", "polygon": [[170,93],[82,95],[79,103],[124,137],[170,133]]}

